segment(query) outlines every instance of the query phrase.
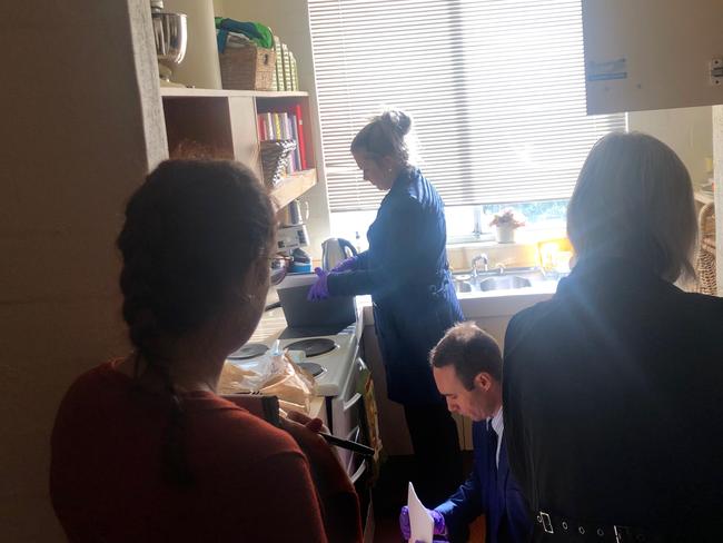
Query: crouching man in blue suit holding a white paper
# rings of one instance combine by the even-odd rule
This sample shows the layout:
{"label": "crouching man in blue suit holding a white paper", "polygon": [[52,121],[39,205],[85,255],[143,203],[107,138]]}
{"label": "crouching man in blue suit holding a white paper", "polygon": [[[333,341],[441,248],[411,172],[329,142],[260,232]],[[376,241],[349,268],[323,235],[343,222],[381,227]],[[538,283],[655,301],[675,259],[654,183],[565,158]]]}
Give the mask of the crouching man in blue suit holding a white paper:
{"label": "crouching man in blue suit holding a white paper", "polygon": [[[467,541],[468,525],[486,516],[489,543],[526,542],[532,534],[527,503],[509,472],[503,441],[502,354],[495,339],[474,324],[445,334],[429,355],[434,379],[452,413],[473,419],[474,470],[443,504],[429,511],[435,535]],[[399,515],[409,539],[407,507]]]}

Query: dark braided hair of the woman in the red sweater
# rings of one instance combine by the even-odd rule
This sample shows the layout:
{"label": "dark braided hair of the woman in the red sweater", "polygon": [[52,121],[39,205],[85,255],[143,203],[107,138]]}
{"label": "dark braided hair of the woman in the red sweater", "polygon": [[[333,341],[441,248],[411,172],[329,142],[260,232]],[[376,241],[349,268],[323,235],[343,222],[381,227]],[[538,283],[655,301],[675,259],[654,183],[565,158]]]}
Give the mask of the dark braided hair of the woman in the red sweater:
{"label": "dark braided hair of the woman in the red sweater", "polygon": [[274,234],[274,208],[247,168],[220,160],[167,160],[152,171],[126,208],[118,237],[123,257],[123,318],[140,361],[164,382],[169,419],[162,440],[164,478],[194,483],[184,447],[182,397],[153,352],[160,337],[182,337],[230,303]]}

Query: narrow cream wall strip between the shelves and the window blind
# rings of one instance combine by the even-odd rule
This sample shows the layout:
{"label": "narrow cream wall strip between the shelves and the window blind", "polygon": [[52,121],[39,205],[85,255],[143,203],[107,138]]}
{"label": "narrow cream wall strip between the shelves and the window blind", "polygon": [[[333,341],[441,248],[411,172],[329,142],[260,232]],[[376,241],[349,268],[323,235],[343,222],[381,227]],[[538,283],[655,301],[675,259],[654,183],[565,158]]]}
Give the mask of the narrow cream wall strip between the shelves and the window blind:
{"label": "narrow cream wall strip between the shelves and the window blind", "polygon": [[298,63],[299,86],[309,92],[315,135],[314,149],[318,184],[301,199],[309,203],[310,216],[308,231],[311,246],[308,251],[314,258],[321,258],[321,241],[329,236],[328,198],[326,175],[321,150],[321,128],[316,102],[316,79],[314,55],[309,29],[308,4],[306,0],[214,0],[217,17],[228,17],[239,21],[255,21],[271,28],[284,43],[294,52]]}

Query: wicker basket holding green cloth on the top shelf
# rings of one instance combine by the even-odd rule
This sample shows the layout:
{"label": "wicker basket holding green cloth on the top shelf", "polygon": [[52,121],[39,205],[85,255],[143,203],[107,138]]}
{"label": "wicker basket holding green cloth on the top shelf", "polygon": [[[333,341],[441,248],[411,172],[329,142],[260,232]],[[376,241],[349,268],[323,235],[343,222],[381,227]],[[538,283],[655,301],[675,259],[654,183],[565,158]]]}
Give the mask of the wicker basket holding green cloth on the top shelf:
{"label": "wicker basket holding green cloth on the top shelf", "polygon": [[227,47],[218,56],[221,66],[221,85],[230,90],[273,90],[276,72],[274,49]]}

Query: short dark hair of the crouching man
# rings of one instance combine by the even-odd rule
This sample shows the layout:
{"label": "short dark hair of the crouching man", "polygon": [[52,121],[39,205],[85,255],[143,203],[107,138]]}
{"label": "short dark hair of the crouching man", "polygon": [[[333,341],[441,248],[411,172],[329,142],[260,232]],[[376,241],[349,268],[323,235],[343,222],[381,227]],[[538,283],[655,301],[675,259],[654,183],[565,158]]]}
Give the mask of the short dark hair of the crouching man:
{"label": "short dark hair of the crouching man", "polygon": [[502,352],[495,338],[473,323],[449,328],[429,353],[433,367],[454,366],[457,377],[467,391],[474,388],[475,377],[482,372],[502,379]]}

